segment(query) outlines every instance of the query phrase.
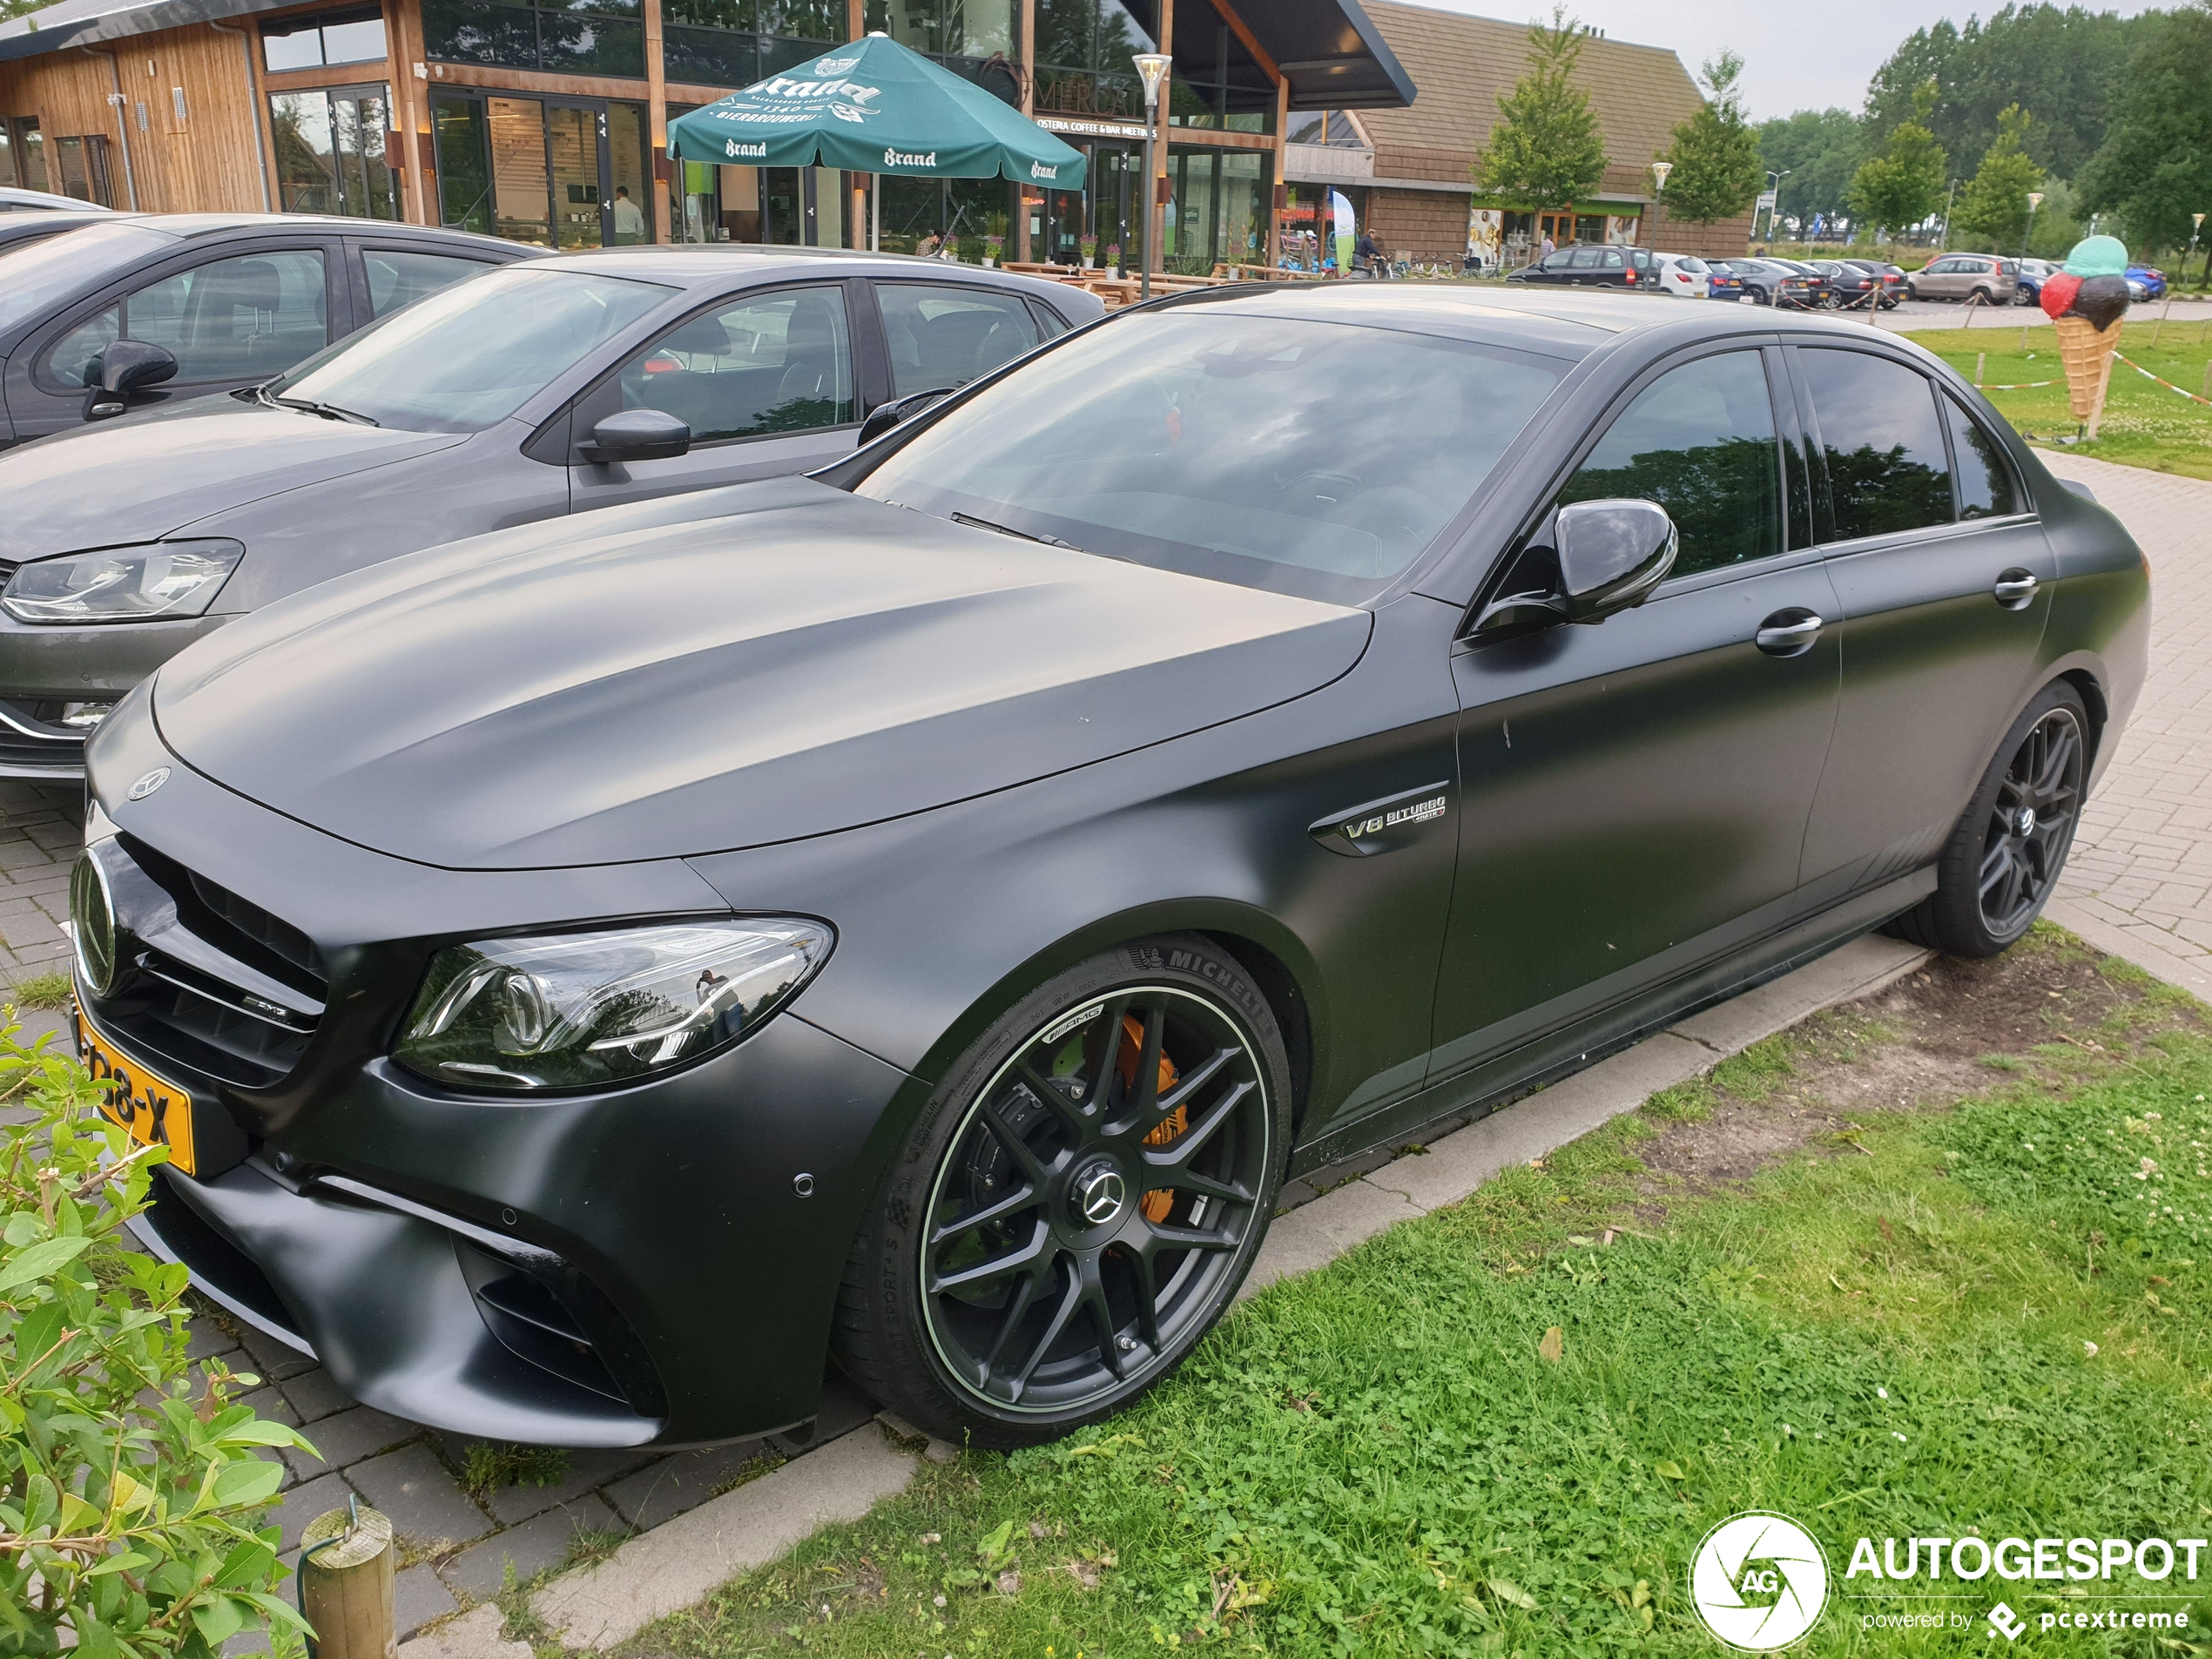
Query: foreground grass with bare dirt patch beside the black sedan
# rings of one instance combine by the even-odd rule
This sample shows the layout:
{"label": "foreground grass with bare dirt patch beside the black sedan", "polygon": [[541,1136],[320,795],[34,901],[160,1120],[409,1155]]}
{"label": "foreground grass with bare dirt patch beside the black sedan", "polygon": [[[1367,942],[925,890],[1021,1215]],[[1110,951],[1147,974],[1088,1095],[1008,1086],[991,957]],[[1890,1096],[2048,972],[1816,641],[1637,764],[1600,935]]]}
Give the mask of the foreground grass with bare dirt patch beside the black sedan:
{"label": "foreground grass with bare dirt patch beside the black sedan", "polygon": [[[1267,1290],[1073,1442],[925,1464],[628,1652],[1712,1655],[1688,1559],[1743,1509],[1829,1555],[1805,1652],[2002,1650],[2000,1597],[2033,1626],[2121,1584],[1902,1595],[1845,1579],[1851,1546],[2212,1531],[2208,1095],[2212,1015],[2055,929],[1940,962]],[[2183,1639],[2022,1646],[2212,1652],[2179,1568],[2126,1588]],[[1971,1628],[1860,1626],[1900,1610]]]}

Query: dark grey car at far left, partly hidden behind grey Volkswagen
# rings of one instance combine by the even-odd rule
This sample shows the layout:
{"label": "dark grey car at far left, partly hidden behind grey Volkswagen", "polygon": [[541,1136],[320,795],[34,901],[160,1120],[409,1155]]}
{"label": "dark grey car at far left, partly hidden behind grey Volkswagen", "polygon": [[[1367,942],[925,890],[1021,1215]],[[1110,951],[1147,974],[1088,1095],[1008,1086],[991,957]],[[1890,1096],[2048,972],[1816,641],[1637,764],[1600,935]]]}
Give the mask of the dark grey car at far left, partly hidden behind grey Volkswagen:
{"label": "dark grey car at far left, partly hidden behind grey Volkswagen", "polygon": [[[531,252],[462,230],[299,212],[104,212],[97,223],[58,212],[53,226],[73,228],[18,230],[22,241],[0,246],[0,449],[268,380]],[[119,383],[102,387],[102,372]],[[88,387],[111,396],[88,398]]]}

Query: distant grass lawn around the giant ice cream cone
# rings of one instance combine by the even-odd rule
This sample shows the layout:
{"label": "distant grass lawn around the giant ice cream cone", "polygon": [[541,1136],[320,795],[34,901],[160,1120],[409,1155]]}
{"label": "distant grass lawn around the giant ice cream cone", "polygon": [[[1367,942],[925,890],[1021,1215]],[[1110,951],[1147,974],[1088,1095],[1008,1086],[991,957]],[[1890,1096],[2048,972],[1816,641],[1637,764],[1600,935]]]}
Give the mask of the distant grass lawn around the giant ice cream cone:
{"label": "distant grass lawn around the giant ice cream cone", "polygon": [[[2150,343],[2154,305],[2137,307],[2121,330],[2119,349],[2163,380],[2203,396],[2205,363],[2212,361],[2212,307],[2177,305],[2159,343]],[[1909,338],[1936,352],[1944,363],[1975,378],[1973,365],[1989,354],[1980,376],[1986,385],[2022,385],[2055,380],[2033,392],[1986,392],[2006,420],[2037,442],[2073,436],[2079,422],[2066,400],[2066,367],[2059,363],[2057,336],[2048,327],[2031,327],[2026,349],[2020,347],[2020,325],[2006,327],[1993,312],[1991,321],[1971,330],[1949,327],[1916,332]],[[2188,319],[2188,321],[2183,321]],[[2097,442],[2066,445],[2077,456],[2117,460],[2185,478],[2212,478],[2212,409],[2177,398],[2161,385],[2135,374],[2126,363],[2112,365],[2112,389],[2106,396]]]}

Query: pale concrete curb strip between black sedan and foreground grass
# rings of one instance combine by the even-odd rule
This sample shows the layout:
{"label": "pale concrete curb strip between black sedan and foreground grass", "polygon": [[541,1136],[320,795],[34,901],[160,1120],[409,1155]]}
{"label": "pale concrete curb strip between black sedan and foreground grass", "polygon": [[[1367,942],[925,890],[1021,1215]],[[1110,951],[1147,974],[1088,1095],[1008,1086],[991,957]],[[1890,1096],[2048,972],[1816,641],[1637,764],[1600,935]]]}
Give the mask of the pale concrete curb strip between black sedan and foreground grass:
{"label": "pale concrete curb strip between black sedan and foreground grass", "polygon": [[[1281,1279],[1325,1267],[1400,1221],[1458,1203],[1500,1170],[1555,1152],[1635,1110],[1652,1093],[1688,1082],[1820,1009],[1874,995],[1929,956],[1891,938],[1851,940],[1440,1137],[1422,1157],[1400,1157],[1345,1181],[1274,1221],[1239,1301]],[[920,1464],[907,1449],[914,1442],[927,1442],[922,1455],[931,1462],[958,1455],[953,1447],[929,1442],[902,1420],[878,1413],[876,1422],[639,1533],[608,1559],[549,1582],[531,1597],[531,1610],[568,1648],[613,1648],[655,1619],[695,1606],[737,1573],[774,1562],[818,1526],[856,1522],[883,1498],[905,1491]],[[498,1641],[495,1621],[498,1608],[476,1608],[403,1644],[400,1655],[526,1659],[524,1644]]]}

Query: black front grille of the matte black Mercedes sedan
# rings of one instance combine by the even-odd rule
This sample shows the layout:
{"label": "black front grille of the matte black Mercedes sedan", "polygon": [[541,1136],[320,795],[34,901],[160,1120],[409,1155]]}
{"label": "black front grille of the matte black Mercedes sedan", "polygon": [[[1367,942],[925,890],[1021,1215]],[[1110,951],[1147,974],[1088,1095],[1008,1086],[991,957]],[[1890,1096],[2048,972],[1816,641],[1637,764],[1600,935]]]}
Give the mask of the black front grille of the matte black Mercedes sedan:
{"label": "black front grille of the matte black Mercedes sedan", "polygon": [[122,969],[95,1004],[100,1022],[246,1088],[290,1075],[327,998],[314,940],[133,836],[97,856],[115,891]]}

